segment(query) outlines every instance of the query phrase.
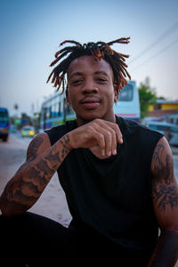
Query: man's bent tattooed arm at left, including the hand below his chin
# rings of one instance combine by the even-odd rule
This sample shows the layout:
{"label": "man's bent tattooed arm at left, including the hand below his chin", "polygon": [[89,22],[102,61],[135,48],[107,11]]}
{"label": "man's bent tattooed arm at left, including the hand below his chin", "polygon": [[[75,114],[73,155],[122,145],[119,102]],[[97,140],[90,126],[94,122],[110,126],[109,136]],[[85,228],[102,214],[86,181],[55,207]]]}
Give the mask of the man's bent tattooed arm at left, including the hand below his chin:
{"label": "man's bent tattooed arm at left, including the hand below his chin", "polygon": [[109,157],[117,153],[117,142],[123,142],[117,124],[101,119],[69,132],[53,146],[47,134],[38,134],[29,144],[26,162],[4,189],[0,198],[2,213],[21,214],[33,206],[70,150],[96,147]]}

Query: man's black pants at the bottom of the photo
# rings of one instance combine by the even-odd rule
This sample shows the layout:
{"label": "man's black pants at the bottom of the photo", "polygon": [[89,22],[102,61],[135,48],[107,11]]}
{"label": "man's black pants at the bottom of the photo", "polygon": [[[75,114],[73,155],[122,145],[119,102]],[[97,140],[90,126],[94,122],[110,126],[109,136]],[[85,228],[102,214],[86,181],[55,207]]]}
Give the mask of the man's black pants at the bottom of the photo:
{"label": "man's black pants at the bottom of the photo", "polygon": [[[2,266],[146,266],[148,258],[118,248],[99,234],[44,216],[0,216]],[[1,264],[0,264],[1,265]]]}

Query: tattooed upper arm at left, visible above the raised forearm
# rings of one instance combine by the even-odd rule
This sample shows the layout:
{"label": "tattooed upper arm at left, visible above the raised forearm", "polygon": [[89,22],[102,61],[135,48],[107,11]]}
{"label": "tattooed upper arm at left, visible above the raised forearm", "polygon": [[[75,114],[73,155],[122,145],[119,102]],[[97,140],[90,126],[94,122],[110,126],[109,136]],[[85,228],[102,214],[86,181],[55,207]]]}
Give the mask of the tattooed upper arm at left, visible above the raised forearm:
{"label": "tattooed upper arm at left, visible above the raised forearm", "polygon": [[51,142],[48,134],[37,134],[36,137],[29,143],[27,150],[27,161],[31,161],[34,158],[41,155],[45,150],[51,147]]}

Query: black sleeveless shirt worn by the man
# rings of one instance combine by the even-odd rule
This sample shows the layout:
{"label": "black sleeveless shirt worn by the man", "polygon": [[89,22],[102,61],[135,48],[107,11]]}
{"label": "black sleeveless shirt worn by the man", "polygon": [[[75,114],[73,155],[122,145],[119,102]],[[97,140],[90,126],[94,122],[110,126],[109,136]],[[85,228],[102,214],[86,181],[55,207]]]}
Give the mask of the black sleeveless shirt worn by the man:
{"label": "black sleeveless shirt worn by the man", "polygon": [[[151,158],[158,132],[117,117],[124,143],[117,155],[100,159],[90,150],[71,150],[58,169],[73,223],[87,225],[126,249],[152,249],[158,224],[151,198]],[[51,144],[77,128],[77,121],[46,131]]]}

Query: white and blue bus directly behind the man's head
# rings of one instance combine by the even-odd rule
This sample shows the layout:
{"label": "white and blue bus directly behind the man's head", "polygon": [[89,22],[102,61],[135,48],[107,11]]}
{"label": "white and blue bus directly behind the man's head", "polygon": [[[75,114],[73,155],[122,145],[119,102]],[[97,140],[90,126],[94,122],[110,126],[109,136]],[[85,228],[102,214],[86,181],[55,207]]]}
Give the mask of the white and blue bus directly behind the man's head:
{"label": "white and blue bus directly behind the man's head", "polygon": [[[119,93],[119,100],[114,104],[117,116],[140,121],[140,101],[137,86],[134,81],[128,81]],[[42,104],[40,132],[57,125],[63,125],[66,120],[75,119],[76,114],[68,105],[65,93],[53,93]]]}

